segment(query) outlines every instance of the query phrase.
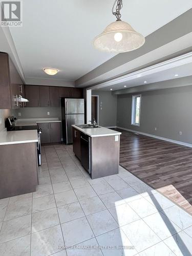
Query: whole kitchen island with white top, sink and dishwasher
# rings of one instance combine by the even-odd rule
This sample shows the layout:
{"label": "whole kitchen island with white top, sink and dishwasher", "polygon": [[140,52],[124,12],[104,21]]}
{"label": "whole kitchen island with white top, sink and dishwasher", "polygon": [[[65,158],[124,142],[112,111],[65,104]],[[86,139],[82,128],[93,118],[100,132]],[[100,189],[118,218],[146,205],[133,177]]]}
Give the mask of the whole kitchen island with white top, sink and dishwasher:
{"label": "whole kitchen island with white top, sink and dishwasher", "polygon": [[101,126],[72,127],[73,152],[91,178],[118,174],[121,133]]}

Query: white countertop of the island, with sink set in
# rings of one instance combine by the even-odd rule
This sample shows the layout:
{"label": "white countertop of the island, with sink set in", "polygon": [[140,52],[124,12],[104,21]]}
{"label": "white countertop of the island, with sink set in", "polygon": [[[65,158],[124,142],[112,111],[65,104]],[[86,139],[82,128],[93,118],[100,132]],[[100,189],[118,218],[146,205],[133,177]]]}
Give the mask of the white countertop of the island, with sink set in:
{"label": "white countertop of the island, with sink set in", "polygon": [[112,136],[112,135],[120,135],[120,132],[116,132],[114,130],[101,127],[98,128],[86,128],[81,129],[80,127],[76,126],[75,124],[72,125],[75,129],[81,131],[84,134],[87,134],[90,137],[102,137],[102,136]]}

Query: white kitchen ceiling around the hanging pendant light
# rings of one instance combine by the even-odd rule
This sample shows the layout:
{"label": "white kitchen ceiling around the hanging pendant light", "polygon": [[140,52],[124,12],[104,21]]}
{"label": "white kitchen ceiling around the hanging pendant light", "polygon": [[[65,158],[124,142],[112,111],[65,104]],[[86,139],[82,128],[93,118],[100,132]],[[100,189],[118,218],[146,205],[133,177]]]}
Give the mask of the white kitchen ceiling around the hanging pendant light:
{"label": "white kitchen ceiling around the hanging pendant light", "polygon": [[[114,0],[23,1],[23,27],[10,31],[25,77],[76,80],[113,57],[92,46],[93,38],[115,20],[111,14],[113,3]],[[182,5],[180,0],[124,0],[123,5],[122,19],[144,36],[192,8],[191,0]],[[44,67],[60,72],[50,77],[42,72]]]}

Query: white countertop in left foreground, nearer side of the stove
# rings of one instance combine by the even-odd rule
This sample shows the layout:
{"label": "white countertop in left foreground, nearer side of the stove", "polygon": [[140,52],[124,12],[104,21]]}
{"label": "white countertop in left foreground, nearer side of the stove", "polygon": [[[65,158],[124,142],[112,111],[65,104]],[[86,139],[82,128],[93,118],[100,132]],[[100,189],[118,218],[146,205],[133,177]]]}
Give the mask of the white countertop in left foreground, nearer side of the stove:
{"label": "white countertop in left foreground, nearer side of the stove", "polygon": [[37,130],[0,132],[0,145],[29,143],[37,141]]}

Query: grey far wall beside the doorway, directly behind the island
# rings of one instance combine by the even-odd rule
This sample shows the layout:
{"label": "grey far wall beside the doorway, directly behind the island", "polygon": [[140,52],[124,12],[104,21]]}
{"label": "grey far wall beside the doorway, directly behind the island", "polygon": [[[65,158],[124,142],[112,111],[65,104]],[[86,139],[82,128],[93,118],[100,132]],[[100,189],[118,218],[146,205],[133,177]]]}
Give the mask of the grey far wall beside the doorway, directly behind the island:
{"label": "grey far wall beside the doorway, directly behind the island", "polygon": [[116,126],[117,122],[117,96],[106,91],[92,91],[92,95],[99,95],[99,125]]}

